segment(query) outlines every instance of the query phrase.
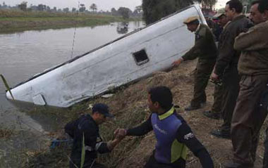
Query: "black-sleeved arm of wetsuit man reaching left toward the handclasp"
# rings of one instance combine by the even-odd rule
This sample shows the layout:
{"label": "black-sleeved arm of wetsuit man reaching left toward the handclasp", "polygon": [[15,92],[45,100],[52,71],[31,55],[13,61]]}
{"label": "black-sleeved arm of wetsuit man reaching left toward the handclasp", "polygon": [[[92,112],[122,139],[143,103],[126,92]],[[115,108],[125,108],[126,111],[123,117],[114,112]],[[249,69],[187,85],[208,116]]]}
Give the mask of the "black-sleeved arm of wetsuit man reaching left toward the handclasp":
{"label": "black-sleeved arm of wetsuit man reaching left toward the handclasp", "polygon": [[126,135],[127,136],[143,136],[147,134],[148,132],[152,131],[152,122],[151,122],[151,116],[140,126],[135,127],[133,129],[128,129],[126,130]]}

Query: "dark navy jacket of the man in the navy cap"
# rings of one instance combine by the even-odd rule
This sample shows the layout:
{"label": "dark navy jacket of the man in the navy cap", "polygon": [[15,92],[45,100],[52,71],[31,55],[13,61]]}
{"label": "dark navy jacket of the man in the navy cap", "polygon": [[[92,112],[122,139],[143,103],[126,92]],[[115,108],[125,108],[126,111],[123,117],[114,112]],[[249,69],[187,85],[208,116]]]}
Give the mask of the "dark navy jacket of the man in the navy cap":
{"label": "dark navy jacket of the man in the navy cap", "polygon": [[85,164],[90,164],[97,158],[98,153],[109,153],[107,144],[102,142],[99,136],[99,127],[90,115],[82,115],[73,122],[69,122],[64,127],[65,132],[73,138],[73,148],[71,153],[70,167],[80,167],[83,137],[85,139]]}

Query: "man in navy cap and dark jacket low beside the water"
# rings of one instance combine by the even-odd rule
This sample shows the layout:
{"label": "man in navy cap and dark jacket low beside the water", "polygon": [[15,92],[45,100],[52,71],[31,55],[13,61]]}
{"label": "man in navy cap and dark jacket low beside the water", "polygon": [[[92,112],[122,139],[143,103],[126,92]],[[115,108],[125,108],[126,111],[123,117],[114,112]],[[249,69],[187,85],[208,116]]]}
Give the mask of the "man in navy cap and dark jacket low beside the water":
{"label": "man in navy cap and dark jacket low beside the water", "polygon": [[95,162],[97,153],[109,153],[123,138],[118,134],[113,141],[104,143],[99,136],[99,124],[106,121],[106,117],[113,117],[107,105],[97,103],[92,108],[92,116],[83,115],[64,127],[66,133],[73,138],[70,168],[80,167],[83,143],[85,144],[86,168],[104,168],[104,165]]}

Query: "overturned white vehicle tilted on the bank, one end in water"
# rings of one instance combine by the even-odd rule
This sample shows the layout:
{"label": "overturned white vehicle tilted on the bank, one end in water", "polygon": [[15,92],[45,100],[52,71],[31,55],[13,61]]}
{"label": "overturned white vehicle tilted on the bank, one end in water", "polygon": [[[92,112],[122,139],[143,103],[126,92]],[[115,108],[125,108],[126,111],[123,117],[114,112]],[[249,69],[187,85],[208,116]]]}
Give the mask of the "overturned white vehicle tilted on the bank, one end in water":
{"label": "overturned white vehicle tilted on the bank, one end in water", "polygon": [[188,6],[151,25],[51,67],[6,92],[8,100],[67,108],[123,84],[166,70],[194,45],[195,34],[183,20],[199,15]]}

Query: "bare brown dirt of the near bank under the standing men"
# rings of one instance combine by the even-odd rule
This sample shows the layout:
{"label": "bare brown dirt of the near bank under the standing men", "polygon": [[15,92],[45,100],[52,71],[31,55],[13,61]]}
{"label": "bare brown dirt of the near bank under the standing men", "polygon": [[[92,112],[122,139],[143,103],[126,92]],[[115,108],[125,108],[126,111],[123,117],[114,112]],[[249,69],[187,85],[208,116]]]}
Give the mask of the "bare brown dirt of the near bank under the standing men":
{"label": "bare brown dirt of the near bank under the standing men", "polygon": [[[188,122],[190,127],[193,129],[195,136],[202,142],[202,144],[207,148],[210,155],[214,160],[215,167],[223,167],[224,162],[228,162],[232,158],[232,144],[231,140],[217,138],[209,134],[212,129],[219,127],[222,123],[222,120],[209,119],[202,115],[204,110],[209,110],[213,103],[213,94],[214,94],[214,84],[209,83],[207,86],[207,105],[200,110],[195,110],[191,112],[185,112],[183,108],[188,106],[192,96],[193,96],[193,70],[195,70],[196,61],[185,62],[176,67],[171,72],[158,72],[154,77],[145,79],[145,81],[150,83],[150,80],[153,80],[155,85],[166,85],[171,88],[173,93],[175,105],[180,105],[181,109],[180,114]],[[139,86],[140,83],[136,84]],[[118,168],[133,167],[140,168],[142,167],[146,160],[152,154],[152,149],[154,148],[154,135],[150,134],[145,136],[144,139],[140,142],[140,146],[133,150],[133,153],[130,153],[128,157],[118,166]],[[262,156],[263,156],[264,147],[262,141],[260,141],[260,146],[257,150],[257,158],[255,162],[255,167],[262,167]],[[197,157],[193,153],[188,153],[187,160],[188,168],[201,167],[201,164]]]}

